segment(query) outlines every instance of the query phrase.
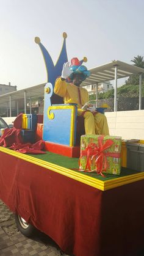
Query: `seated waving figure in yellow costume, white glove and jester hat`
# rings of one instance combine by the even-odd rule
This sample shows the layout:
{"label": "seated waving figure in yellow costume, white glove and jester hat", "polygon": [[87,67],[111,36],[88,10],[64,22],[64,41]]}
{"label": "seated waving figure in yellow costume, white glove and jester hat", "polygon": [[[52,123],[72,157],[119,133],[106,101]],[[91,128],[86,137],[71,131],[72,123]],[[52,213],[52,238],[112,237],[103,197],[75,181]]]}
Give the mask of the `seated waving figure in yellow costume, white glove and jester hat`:
{"label": "seated waving figure in yellow costume, white glove and jester hat", "polygon": [[[77,115],[84,117],[85,134],[109,135],[107,119],[104,114],[96,112],[95,108],[82,109],[82,106],[88,102],[88,92],[80,85],[87,76],[90,76],[90,71],[81,65],[83,61],[87,61],[86,58],[81,61],[73,58],[71,65],[69,62],[63,64],[62,75],[56,79],[54,92],[63,97],[65,104],[77,104]],[[67,82],[66,79],[71,82]]]}

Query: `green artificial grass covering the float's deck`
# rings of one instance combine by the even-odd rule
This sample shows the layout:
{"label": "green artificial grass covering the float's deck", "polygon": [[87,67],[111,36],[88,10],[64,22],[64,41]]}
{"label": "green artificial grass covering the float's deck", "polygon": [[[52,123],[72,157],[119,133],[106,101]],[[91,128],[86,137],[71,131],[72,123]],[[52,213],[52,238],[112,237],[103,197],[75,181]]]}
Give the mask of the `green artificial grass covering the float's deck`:
{"label": "green artificial grass covering the float's deck", "polygon": [[[68,156],[58,155],[56,153],[46,152],[43,155],[33,155],[35,158],[44,160],[46,162],[50,162],[52,164],[57,164],[58,166],[65,167],[67,169],[77,169],[74,170],[75,172],[80,172],[78,158],[69,158]],[[113,180],[115,178],[120,178],[132,174],[137,174],[135,170],[130,170],[128,168],[121,167],[121,174],[120,175],[113,175],[113,174],[104,174],[105,177],[96,174],[96,172],[81,172],[82,175],[88,175],[93,178],[97,178],[98,180],[106,181],[106,180]]]}

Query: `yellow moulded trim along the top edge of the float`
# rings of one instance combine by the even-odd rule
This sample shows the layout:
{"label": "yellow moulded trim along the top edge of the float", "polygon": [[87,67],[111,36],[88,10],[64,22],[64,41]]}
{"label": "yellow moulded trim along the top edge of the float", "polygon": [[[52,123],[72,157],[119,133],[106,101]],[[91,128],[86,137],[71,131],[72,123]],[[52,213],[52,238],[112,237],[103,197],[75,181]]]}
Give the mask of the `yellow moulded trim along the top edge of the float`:
{"label": "yellow moulded trim along the top edge of the float", "polygon": [[140,172],[137,174],[115,178],[113,180],[101,181],[96,178],[89,177],[88,175],[84,175],[81,172],[75,172],[74,170],[58,166],[57,164],[49,163],[47,161],[35,158],[34,156],[18,153],[8,148],[0,147],[0,151],[6,153],[7,155],[12,155],[16,158],[23,159],[29,163],[36,164],[37,166],[44,167],[45,169],[52,170],[53,172],[57,172],[58,174],[64,175],[66,177],[73,178],[73,180],[77,180],[101,191],[117,188],[118,186],[133,183],[135,181],[144,180],[144,172]]}

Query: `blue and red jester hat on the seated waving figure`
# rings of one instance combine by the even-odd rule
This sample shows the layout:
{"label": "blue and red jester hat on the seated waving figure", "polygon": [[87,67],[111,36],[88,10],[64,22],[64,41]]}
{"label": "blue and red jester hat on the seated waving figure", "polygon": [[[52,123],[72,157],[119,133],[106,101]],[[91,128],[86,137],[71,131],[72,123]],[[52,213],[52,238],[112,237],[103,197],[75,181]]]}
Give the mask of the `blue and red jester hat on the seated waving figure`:
{"label": "blue and red jester hat on the seated waving figure", "polygon": [[70,70],[72,70],[73,73],[69,76],[69,80],[73,80],[74,74],[82,74],[84,76],[83,81],[87,76],[90,76],[90,71],[87,70],[87,67],[82,65],[83,62],[87,62],[87,57],[84,57],[82,60],[77,59],[77,57],[71,59]]}

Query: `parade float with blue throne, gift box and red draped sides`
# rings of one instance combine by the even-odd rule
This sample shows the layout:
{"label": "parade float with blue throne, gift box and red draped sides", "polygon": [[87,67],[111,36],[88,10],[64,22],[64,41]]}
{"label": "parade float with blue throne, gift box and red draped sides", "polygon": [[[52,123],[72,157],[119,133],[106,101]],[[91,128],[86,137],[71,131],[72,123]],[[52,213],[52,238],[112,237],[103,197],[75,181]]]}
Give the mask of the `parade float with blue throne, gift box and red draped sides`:
{"label": "parade float with blue throne, gift box and red draped sides", "polygon": [[[137,159],[140,169],[129,168],[125,142],[117,136],[86,136],[76,104],[63,104],[54,93],[56,78],[68,60],[66,38],[63,33],[56,65],[40,38],[35,38],[48,73],[43,115],[46,152],[30,155],[0,147],[0,198],[16,214],[24,235],[37,228],[67,254],[136,255],[143,248],[143,158]],[[34,120],[28,119],[34,116],[21,116],[21,130],[31,140]],[[137,145],[143,152],[144,141],[137,142],[134,149]]]}

